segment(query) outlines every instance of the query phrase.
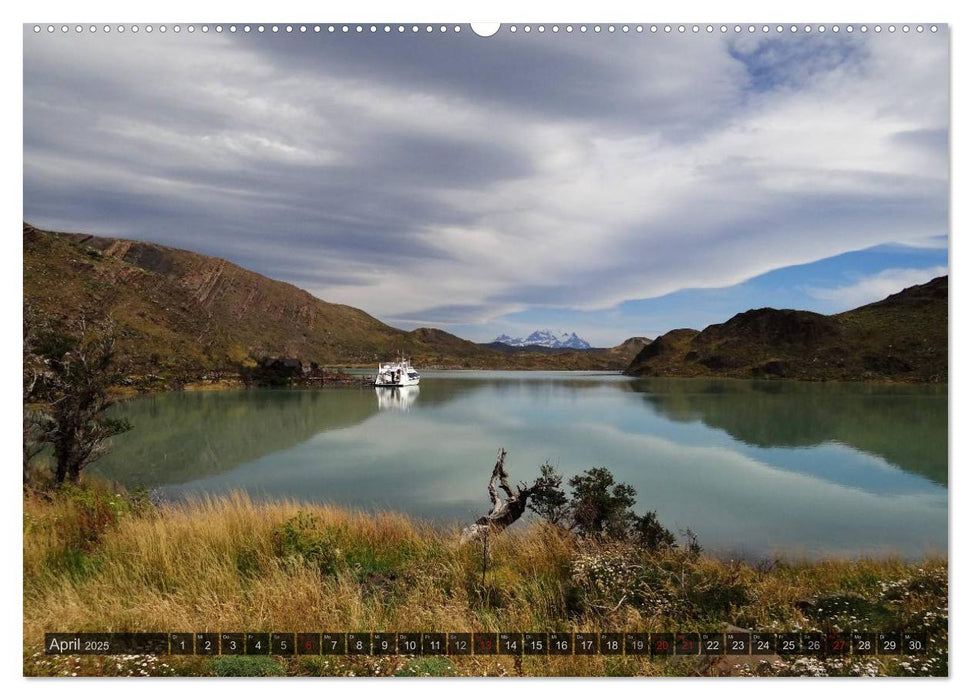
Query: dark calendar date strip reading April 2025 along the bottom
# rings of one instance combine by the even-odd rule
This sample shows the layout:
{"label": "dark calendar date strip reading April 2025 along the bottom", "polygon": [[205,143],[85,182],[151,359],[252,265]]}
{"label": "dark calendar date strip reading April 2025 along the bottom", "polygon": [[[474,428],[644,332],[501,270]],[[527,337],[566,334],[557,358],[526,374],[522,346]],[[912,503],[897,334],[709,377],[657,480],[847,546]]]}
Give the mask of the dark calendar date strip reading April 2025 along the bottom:
{"label": "dark calendar date strip reading April 2025 along the bottom", "polygon": [[48,632],[52,655],[922,655],[921,632]]}

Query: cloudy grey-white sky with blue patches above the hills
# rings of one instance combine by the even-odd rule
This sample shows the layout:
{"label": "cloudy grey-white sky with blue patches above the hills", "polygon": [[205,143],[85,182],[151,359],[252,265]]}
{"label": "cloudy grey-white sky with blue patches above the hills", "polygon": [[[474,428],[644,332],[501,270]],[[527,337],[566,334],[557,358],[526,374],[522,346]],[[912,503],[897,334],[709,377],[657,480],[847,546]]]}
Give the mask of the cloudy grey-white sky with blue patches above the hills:
{"label": "cloudy grey-white sky with blue patches above the hills", "polygon": [[841,311],[946,271],[947,41],[25,27],[24,219],[479,341]]}

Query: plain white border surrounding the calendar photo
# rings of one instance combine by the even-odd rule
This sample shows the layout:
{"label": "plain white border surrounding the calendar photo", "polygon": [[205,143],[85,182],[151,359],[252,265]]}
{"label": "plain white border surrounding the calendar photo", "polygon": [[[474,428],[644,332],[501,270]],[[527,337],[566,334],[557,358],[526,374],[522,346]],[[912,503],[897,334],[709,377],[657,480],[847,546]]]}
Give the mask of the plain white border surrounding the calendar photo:
{"label": "plain white border surrounding the calendar photo", "polygon": [[[392,2],[391,0],[381,0],[368,2],[348,3],[344,6],[323,3],[296,3],[296,2],[255,2],[253,0],[239,0],[238,2],[216,2],[206,6],[201,6],[196,0],[170,0],[166,3],[136,4],[131,2],[106,2],[102,0],[88,0],[87,2],[67,2],[59,0],[57,2],[28,3],[18,6],[13,12],[5,12],[14,16],[5,17],[6,21],[0,25],[4,32],[2,50],[4,52],[3,66],[3,94],[5,109],[3,111],[5,119],[5,129],[3,144],[3,192],[5,200],[6,226],[10,227],[9,234],[13,233],[13,227],[19,226],[19,221],[23,217],[22,201],[22,158],[23,158],[23,131],[22,118],[22,60],[23,60],[23,34],[21,24],[25,22],[65,22],[84,20],[86,22],[118,21],[129,22],[158,22],[160,19],[172,22],[246,22],[273,20],[278,22],[448,22],[466,24],[470,21],[505,21],[505,22],[627,22],[627,23],[714,23],[714,22],[820,22],[827,23],[931,23],[950,24],[949,32],[951,38],[951,65],[952,65],[952,182],[951,182],[951,250],[950,265],[952,272],[957,271],[957,275],[951,275],[951,358],[965,358],[968,356],[968,304],[967,304],[967,285],[963,282],[960,270],[964,265],[963,238],[968,235],[965,233],[967,224],[966,207],[962,206],[960,197],[956,193],[966,191],[967,178],[964,177],[968,165],[967,160],[967,138],[961,128],[962,124],[971,123],[969,116],[967,93],[968,88],[965,83],[968,79],[966,65],[966,55],[968,49],[964,41],[968,41],[967,36],[971,34],[968,29],[969,24],[965,23],[962,13],[958,9],[957,3],[947,2],[946,0],[922,0],[921,2],[903,2],[901,0],[885,0],[881,3],[858,3],[850,5],[846,0],[814,0],[812,3],[779,3],[768,2],[765,0],[736,0],[735,2],[674,2],[667,5],[651,5],[648,3],[634,3],[621,0],[588,0],[586,3],[576,0],[561,0],[559,2],[533,2],[529,5],[516,0],[492,0],[483,2],[474,0],[472,2],[444,2],[442,0],[413,0],[410,3]],[[20,364],[20,354],[18,346],[19,338],[19,319],[20,319],[20,298],[22,298],[22,251],[19,244],[10,242],[5,251],[3,261],[3,275],[0,277],[3,284],[3,293],[0,295],[0,309],[2,309],[2,329],[4,333],[3,343],[0,344],[2,351],[2,364],[5,370],[2,373],[3,420],[0,421],[2,430],[3,444],[6,447],[8,459],[6,464],[6,478],[9,483],[4,484],[3,490],[6,500],[6,508],[3,509],[3,525],[7,537],[3,538],[4,561],[22,564],[22,548],[20,546],[20,536],[13,533],[20,533],[22,525],[20,523],[21,500],[19,494],[19,480],[14,465],[19,461],[15,454],[19,451],[19,441],[16,439],[12,428],[15,424],[16,415],[20,411],[20,404],[16,397],[20,393],[20,384],[16,381],[14,368]],[[967,360],[964,360],[966,363]],[[612,688],[614,692],[629,692],[637,694],[689,692],[698,690],[703,692],[731,692],[744,693],[761,697],[771,695],[778,699],[780,694],[786,697],[795,698],[810,697],[817,695],[821,691],[832,692],[833,690],[843,690],[850,692],[879,693],[882,697],[908,697],[914,693],[933,693],[935,696],[944,694],[952,695],[960,687],[967,683],[971,676],[961,661],[964,660],[965,649],[968,645],[963,642],[963,635],[960,634],[959,627],[966,629],[967,615],[964,599],[961,598],[955,604],[953,594],[966,584],[966,561],[959,552],[957,546],[962,542],[962,533],[967,531],[968,515],[964,512],[962,504],[967,501],[965,489],[967,480],[962,474],[966,467],[968,455],[967,432],[959,426],[967,426],[967,372],[963,364],[952,362],[950,368],[950,436],[951,436],[951,456],[952,465],[949,490],[950,490],[950,514],[951,532],[949,542],[951,543],[950,567],[951,567],[951,592],[950,617],[950,670],[951,680],[948,682],[934,681],[888,681],[888,680],[869,680],[861,681],[859,684],[851,680],[830,680],[830,681],[773,681],[770,679],[735,679],[728,681],[731,686],[721,685],[715,682],[712,685],[702,686],[682,686],[674,687],[673,684],[690,683],[684,680],[662,680],[662,679],[611,679],[611,680],[589,680],[574,685],[571,680],[531,680],[527,683],[510,685],[507,680],[491,682],[449,682],[449,681],[427,681],[395,683],[381,687],[379,692],[383,693],[402,693],[414,691],[422,695],[431,694],[432,696],[445,696],[461,693],[466,698],[477,698],[493,695],[497,686],[493,683],[503,683],[504,687],[499,692],[529,692],[537,694],[548,694],[551,692],[566,692],[576,689],[579,693],[595,693],[606,687]],[[63,697],[65,693],[70,693],[72,697],[80,695],[84,697],[88,694],[97,694],[99,698],[105,695],[139,693],[140,696],[148,698],[168,697],[173,692],[182,693],[185,690],[201,690],[202,692],[226,692],[222,685],[215,686],[207,684],[202,680],[179,680],[178,687],[172,685],[171,681],[109,681],[91,680],[72,683],[70,681],[43,681],[43,680],[24,680],[21,678],[23,673],[22,658],[19,653],[22,637],[22,581],[20,571],[22,566],[8,565],[8,575],[3,579],[3,594],[0,600],[5,603],[4,619],[9,620],[6,634],[0,641],[0,668],[3,669],[4,679],[20,679],[16,683],[16,689],[24,694],[30,693],[34,697]],[[966,586],[965,586],[966,587]],[[225,683],[226,681],[222,681]],[[231,682],[231,681],[230,681]],[[272,684],[266,685],[264,682],[254,682],[252,680],[241,680],[233,683],[229,691],[236,697],[253,697],[257,693],[263,695],[268,690],[278,692],[281,683],[299,683],[299,681],[268,681]],[[311,681],[300,685],[288,685],[291,692],[307,693],[347,693],[349,696],[359,696],[362,693],[369,693],[378,690],[374,683],[377,681],[366,681],[354,679],[341,681],[337,679],[327,679],[324,681]],[[137,689],[133,685],[137,683]],[[323,683],[315,685],[315,683]],[[569,685],[568,685],[569,683]],[[826,683],[825,688],[820,683]],[[915,685],[915,683],[918,683]],[[933,686],[924,683],[934,683]],[[659,685],[660,684],[660,685]],[[623,686],[623,687],[621,687]],[[407,688],[407,690],[406,690]],[[966,692],[966,691],[965,691]]]}

